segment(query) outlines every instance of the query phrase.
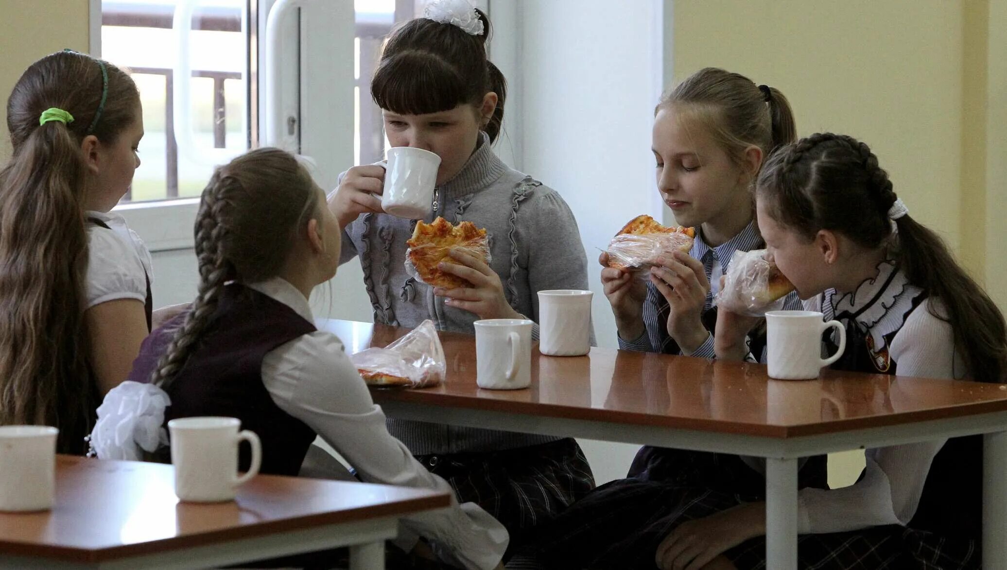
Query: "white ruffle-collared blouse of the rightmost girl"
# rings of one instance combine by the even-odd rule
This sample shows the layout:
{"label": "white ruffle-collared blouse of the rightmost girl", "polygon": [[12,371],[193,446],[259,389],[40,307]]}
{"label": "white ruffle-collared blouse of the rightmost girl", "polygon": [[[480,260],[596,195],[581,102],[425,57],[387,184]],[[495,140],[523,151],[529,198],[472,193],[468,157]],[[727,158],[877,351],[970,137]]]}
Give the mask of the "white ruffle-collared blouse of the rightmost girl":
{"label": "white ruffle-collared blouse of the rightmost girl", "polygon": [[[835,299],[830,292],[826,292],[805,301],[805,307],[822,310],[828,320],[844,310],[853,312],[864,308],[865,301],[874,299],[872,306],[866,307],[857,321],[874,337],[877,347],[884,346],[883,335],[898,330],[889,347],[891,362],[898,366],[898,376],[964,377],[966,371],[955,351],[951,324],[930,314],[930,307],[937,301],[924,299],[906,315],[912,298],[920,290],[909,285],[901,274],[894,276],[885,290],[880,292],[882,284],[887,282],[893,271],[895,268],[892,265],[882,264],[878,277],[862,284],[855,293]],[[875,297],[879,292],[881,294]],[[940,304],[936,308],[943,309]],[[905,384],[893,385],[889,394],[893,408],[898,409],[899,393],[912,388]],[[837,533],[879,525],[908,524],[919,505],[930,463],[946,441],[947,438],[868,449],[865,452],[867,467],[860,481],[829,490],[801,489],[798,494],[798,532]]]}

